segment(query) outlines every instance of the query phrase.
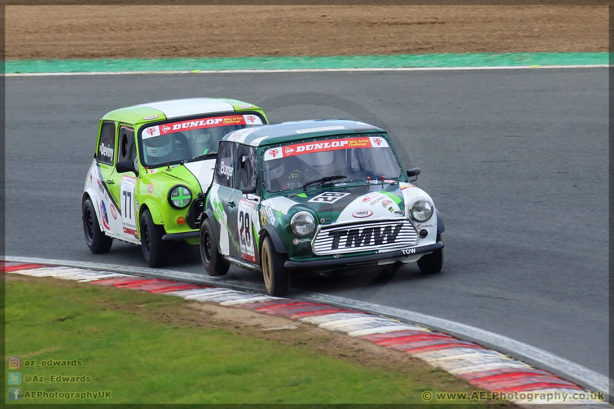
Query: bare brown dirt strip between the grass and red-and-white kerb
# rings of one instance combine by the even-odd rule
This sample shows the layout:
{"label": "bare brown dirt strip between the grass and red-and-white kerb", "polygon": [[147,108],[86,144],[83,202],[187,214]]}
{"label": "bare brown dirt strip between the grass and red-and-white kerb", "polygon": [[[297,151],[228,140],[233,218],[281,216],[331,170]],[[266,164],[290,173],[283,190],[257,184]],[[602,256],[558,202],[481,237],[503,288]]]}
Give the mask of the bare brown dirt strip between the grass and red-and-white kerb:
{"label": "bare brown dirt strip between the grass and red-and-white kerb", "polygon": [[[7,286],[11,281],[48,283],[64,287],[90,287],[91,283],[76,283],[57,278],[38,278],[9,273],[5,275]],[[134,293],[131,289],[99,286],[103,291]],[[377,346],[366,340],[349,337],[340,332],[330,332],[313,324],[295,321],[283,316],[273,316],[256,313],[252,310],[237,307],[222,307],[218,304],[202,302],[185,302],[176,304],[174,297],[169,301],[157,302],[155,307],[138,304],[138,301],[126,304],[117,302],[112,297],[99,297],[97,302],[105,308],[128,310],[147,316],[147,318],[170,325],[190,325],[204,329],[221,328],[234,334],[246,337],[260,338],[281,345],[305,348],[317,354],[337,357],[354,364],[373,369],[400,373],[410,378],[414,383],[425,386],[437,379],[437,388],[445,391],[457,391],[467,388],[479,390],[464,380],[454,377],[441,369],[433,368],[426,362],[412,357],[402,351],[391,350]],[[296,327],[295,329],[271,330],[274,327]],[[263,331],[268,330],[268,331]],[[435,375],[435,377],[433,377]],[[489,402],[484,402],[489,403]],[[491,402],[492,403],[492,402]],[[513,403],[496,401],[497,405],[515,407]]]}

